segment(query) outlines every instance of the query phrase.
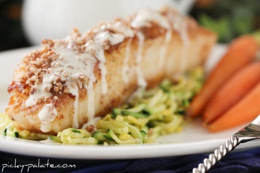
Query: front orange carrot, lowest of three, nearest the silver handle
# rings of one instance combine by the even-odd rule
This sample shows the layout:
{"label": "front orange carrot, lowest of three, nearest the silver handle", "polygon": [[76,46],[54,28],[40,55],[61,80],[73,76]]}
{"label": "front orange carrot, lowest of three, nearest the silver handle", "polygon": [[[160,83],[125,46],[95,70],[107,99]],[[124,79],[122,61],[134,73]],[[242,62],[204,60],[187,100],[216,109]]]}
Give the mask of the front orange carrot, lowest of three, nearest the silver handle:
{"label": "front orange carrot, lowest of three, nearest the silver handle", "polygon": [[260,82],[237,104],[212,124],[206,126],[211,132],[225,130],[251,121],[260,113]]}

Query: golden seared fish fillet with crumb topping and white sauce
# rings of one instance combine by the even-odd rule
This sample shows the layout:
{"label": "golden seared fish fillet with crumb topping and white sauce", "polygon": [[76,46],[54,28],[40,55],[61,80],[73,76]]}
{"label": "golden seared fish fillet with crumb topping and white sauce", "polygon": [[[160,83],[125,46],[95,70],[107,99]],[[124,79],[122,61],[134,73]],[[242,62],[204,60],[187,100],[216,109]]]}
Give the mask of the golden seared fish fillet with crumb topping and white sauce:
{"label": "golden seared fish fillet with crumb topping and white sauce", "polygon": [[23,58],[6,113],[31,132],[86,128],[137,88],[202,64],[215,42],[215,33],[170,8],[143,10],[85,34],[74,29]]}

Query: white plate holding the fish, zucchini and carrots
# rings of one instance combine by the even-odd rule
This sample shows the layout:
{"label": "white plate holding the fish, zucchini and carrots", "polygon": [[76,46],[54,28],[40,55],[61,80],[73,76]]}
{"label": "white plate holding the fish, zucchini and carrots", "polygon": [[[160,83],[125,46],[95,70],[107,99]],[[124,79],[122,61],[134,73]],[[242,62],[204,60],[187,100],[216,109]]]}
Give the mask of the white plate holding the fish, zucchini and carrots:
{"label": "white plate holding the fish, zucchini and carrots", "polygon": [[[34,47],[35,48],[35,47]],[[206,63],[206,70],[209,71],[219,60],[225,51],[225,45],[217,45],[209,61]],[[7,86],[12,79],[14,69],[30,48],[5,51],[0,53],[0,112],[8,104]],[[0,151],[43,157],[75,158],[75,159],[126,159],[126,158],[147,158],[178,156],[186,154],[211,152],[219,145],[222,145],[234,132],[237,127],[220,133],[209,133],[201,126],[200,119],[197,119],[184,127],[183,132],[163,136],[153,144],[117,145],[117,146],[89,146],[89,145],[61,145],[48,141],[38,142],[23,140],[12,137],[0,136]],[[251,148],[260,146],[257,141],[241,144],[238,148]]]}

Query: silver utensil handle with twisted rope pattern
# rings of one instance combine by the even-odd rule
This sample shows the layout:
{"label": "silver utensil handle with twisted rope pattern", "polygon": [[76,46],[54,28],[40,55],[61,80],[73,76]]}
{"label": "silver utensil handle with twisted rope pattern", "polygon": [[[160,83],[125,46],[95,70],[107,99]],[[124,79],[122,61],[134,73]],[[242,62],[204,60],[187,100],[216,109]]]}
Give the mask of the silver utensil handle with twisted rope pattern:
{"label": "silver utensil handle with twisted rope pattern", "polygon": [[214,153],[209,155],[209,158],[205,158],[203,163],[199,163],[198,167],[192,169],[193,173],[203,173],[214,166],[220,161],[226,154],[236,148],[240,143],[245,143],[254,139],[260,138],[260,114],[259,116],[248,126],[241,129],[232,137],[221,145]]}

